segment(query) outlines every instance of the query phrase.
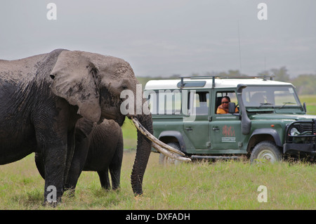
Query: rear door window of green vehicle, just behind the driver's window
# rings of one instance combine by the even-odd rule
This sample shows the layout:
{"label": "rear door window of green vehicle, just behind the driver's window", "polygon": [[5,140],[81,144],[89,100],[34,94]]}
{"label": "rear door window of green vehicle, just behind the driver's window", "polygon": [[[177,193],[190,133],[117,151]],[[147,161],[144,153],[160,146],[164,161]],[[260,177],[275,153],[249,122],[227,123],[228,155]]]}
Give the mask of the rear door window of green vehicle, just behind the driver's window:
{"label": "rear door window of green vehicle, just behind the driver's window", "polygon": [[[189,94],[192,94],[192,92],[190,92]],[[195,95],[193,96],[193,98],[195,99],[194,100],[195,113],[197,115],[209,114],[209,92],[196,92],[194,94]],[[190,103],[190,99],[192,98],[191,97],[188,98],[189,103],[187,103],[187,105],[188,105],[188,109],[192,111],[191,110],[192,103]]]}

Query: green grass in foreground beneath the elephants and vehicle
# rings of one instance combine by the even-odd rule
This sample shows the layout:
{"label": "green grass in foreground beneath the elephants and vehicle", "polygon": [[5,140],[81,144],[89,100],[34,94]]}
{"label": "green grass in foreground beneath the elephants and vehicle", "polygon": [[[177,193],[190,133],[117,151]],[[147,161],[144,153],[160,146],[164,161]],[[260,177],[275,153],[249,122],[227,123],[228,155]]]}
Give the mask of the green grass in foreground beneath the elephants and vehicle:
{"label": "green grass in foreground beneath the elephants and vehicle", "polygon": [[[65,194],[55,209],[316,209],[315,165],[282,162],[192,162],[158,164],[152,153],[143,181],[144,194],[134,197],[130,176],[135,152],[124,152],[121,190],[101,189],[96,172],[83,172],[75,197]],[[257,200],[258,186],[268,202]],[[53,209],[41,206],[44,180],[34,155],[0,166],[0,209]]]}

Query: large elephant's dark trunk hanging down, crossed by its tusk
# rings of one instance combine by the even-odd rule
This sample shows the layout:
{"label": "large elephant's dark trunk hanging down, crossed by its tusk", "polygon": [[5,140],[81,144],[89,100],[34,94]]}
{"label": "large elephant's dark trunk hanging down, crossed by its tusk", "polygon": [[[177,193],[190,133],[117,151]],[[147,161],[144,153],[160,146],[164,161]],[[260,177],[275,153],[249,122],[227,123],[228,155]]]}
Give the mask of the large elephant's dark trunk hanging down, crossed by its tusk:
{"label": "large elephant's dark trunk hanging down, crossed by its tusk", "polygon": [[[138,115],[138,121],[143,127],[152,133],[152,116],[149,115]],[[143,194],[143,176],[147,166],[148,159],[152,148],[152,142],[146,138],[143,133],[137,130],[137,150],[136,158],[133,164],[133,171],[131,173],[131,185],[133,188],[134,195]]]}

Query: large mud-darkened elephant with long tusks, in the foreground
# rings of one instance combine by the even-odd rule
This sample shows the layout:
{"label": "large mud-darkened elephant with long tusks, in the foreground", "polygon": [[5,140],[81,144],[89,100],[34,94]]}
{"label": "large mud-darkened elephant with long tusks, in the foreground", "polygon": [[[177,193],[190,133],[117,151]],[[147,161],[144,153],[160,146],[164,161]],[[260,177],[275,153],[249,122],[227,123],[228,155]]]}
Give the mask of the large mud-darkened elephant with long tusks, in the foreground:
{"label": "large mud-darkened elephant with long tusks, in the foreground", "polygon": [[[138,84],[129,62],[98,53],[56,49],[20,60],[0,60],[0,165],[40,152],[44,204],[58,204],[72,164],[78,119],[99,124],[112,119],[121,126],[128,117],[138,126],[131,186],[134,195],[142,195],[151,148],[176,151],[154,139],[150,113],[121,111],[124,90],[134,93],[136,108]],[[142,98],[140,103],[145,101]]]}

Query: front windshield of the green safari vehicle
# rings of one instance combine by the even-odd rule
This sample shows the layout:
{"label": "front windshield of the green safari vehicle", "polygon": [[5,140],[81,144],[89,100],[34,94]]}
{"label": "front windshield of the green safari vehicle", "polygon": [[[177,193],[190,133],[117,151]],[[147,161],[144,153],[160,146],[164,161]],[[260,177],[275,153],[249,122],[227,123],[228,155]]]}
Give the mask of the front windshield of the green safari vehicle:
{"label": "front windshield of the green safari vehicle", "polygon": [[242,91],[246,107],[300,106],[292,86],[247,86]]}

